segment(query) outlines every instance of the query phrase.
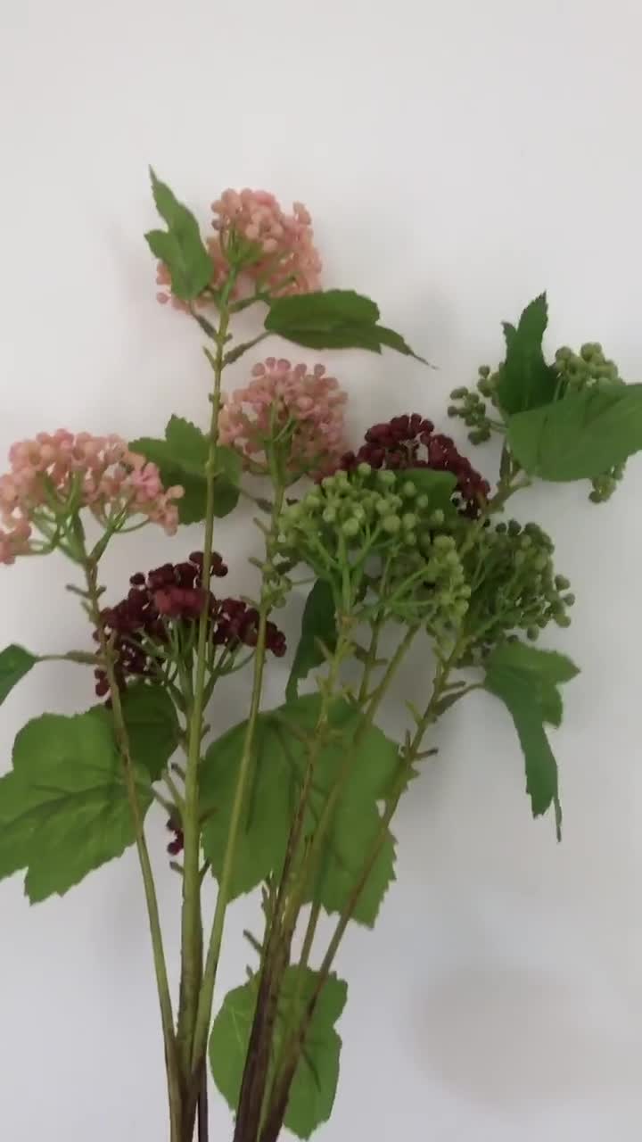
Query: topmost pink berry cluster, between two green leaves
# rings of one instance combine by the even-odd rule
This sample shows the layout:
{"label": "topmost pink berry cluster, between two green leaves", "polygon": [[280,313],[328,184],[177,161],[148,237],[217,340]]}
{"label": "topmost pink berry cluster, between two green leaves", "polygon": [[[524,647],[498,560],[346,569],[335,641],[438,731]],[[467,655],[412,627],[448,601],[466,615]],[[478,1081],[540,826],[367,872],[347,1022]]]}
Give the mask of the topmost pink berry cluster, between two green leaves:
{"label": "topmost pink berry cluster, between two green leaves", "polygon": [[[310,214],[300,202],[295,202],[288,215],[268,191],[227,190],[212,202],[211,209],[216,234],[207,247],[212,289],[219,289],[227,275],[226,247],[232,231],[262,248],[263,256],[243,273],[273,297],[308,293],[320,288],[321,259]],[[158,266],[157,283],[163,287],[157,293],[159,301],[163,305],[171,301],[176,309],[187,309],[184,301],[172,297],[169,271],[162,263]]]}

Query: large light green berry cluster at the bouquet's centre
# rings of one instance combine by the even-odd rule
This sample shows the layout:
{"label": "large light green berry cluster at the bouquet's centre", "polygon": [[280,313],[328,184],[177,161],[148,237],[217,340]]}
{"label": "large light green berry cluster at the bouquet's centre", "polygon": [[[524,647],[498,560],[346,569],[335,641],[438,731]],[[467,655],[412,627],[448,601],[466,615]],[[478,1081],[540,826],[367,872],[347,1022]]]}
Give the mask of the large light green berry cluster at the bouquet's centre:
{"label": "large light green berry cluster at the bouquet's centre", "polygon": [[443,474],[422,476],[435,477],[434,494],[408,472],[369,464],[327,476],[283,509],[281,544],[331,584],[344,614],[368,621],[385,613],[442,642],[468,608],[457,537],[472,523],[454,512]]}

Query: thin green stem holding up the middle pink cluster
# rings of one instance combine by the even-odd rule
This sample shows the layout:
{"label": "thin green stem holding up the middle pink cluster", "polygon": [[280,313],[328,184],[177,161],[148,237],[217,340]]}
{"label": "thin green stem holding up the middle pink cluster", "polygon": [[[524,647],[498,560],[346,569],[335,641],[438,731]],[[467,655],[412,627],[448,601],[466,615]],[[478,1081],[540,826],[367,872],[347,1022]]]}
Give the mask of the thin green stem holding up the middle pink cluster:
{"label": "thin green stem holding up the middle pink cluster", "polygon": [[[272,547],[275,539],[276,521],[281,513],[283,499],[284,499],[284,485],[281,482],[275,488],[274,505],[272,508],[271,530],[266,541],[266,553],[268,562],[271,561],[273,554]],[[250,707],[249,707],[246,734],[243,740],[243,749],[239,763],[239,775],[236,779],[236,788],[234,790],[234,801],[232,803],[232,811],[230,814],[230,828],[227,833],[225,854],[223,858],[223,869],[220,872],[218,895],[216,898],[216,908],[214,912],[211,935],[210,935],[207,959],[202,976],[202,984],[196,1008],[196,1018],[195,1018],[194,1036],[192,1045],[192,1059],[191,1059],[192,1070],[194,1067],[198,1065],[199,1060],[204,1054],[207,1045],[207,1035],[211,1018],[211,1005],[214,999],[214,988],[216,984],[216,973],[218,970],[218,959],[220,956],[220,946],[223,942],[223,930],[225,926],[225,914],[227,910],[227,903],[230,899],[232,871],[234,868],[234,858],[236,855],[236,845],[240,835],[241,819],[242,819],[244,797],[246,797],[246,787],[248,778],[251,772],[256,727],[258,723],[258,715],[260,711],[260,699],[263,694],[263,676],[265,671],[265,652],[266,652],[265,641],[267,630],[267,616],[270,613],[270,610],[271,610],[271,596],[270,592],[265,589],[265,573],[264,573],[264,582],[262,586],[262,600],[259,604],[256,653],[254,658]]]}

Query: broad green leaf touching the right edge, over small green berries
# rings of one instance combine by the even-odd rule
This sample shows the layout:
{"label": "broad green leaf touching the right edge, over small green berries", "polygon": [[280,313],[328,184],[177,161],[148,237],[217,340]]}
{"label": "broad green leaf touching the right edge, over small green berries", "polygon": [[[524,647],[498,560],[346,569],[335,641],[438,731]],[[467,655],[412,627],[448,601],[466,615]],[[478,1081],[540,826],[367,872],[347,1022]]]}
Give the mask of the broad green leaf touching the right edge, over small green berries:
{"label": "broad green leaf touching the right edge, over small green berries", "polygon": [[642,385],[569,393],[511,417],[507,440],[522,467],[541,480],[592,480],[642,449]]}

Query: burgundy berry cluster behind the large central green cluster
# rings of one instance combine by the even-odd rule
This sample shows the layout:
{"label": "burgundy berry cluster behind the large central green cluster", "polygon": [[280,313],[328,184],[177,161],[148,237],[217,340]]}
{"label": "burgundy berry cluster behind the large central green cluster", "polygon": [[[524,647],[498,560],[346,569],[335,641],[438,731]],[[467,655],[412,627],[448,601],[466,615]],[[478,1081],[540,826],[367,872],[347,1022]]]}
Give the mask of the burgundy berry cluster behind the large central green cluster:
{"label": "burgundy berry cluster behind the large central green cluster", "polygon": [[450,436],[435,433],[432,420],[418,412],[393,417],[372,425],[358,452],[346,452],[339,467],[347,472],[366,461],[372,468],[433,468],[450,472],[466,515],[476,516],[490,492],[490,484],[462,456]]}

